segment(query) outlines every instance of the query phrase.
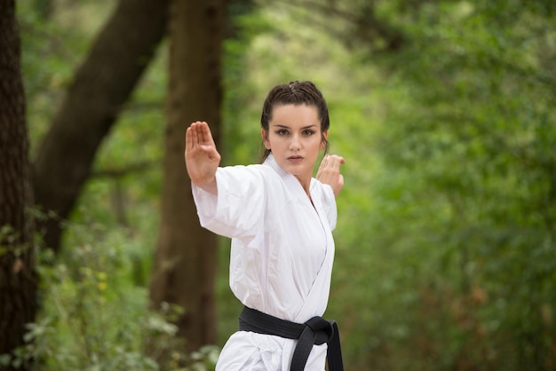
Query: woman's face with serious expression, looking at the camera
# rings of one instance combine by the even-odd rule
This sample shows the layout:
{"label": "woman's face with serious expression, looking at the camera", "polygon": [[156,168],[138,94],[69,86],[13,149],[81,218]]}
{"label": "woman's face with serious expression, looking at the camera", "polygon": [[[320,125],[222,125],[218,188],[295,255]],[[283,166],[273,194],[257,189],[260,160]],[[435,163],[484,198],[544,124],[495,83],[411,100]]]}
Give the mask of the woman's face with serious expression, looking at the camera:
{"label": "woman's face with serious expression, looking at the camera", "polygon": [[306,105],[274,106],[268,133],[261,130],[266,149],[283,169],[296,176],[301,184],[309,186],[314,162],[324,148],[328,132],[321,132],[317,108]]}

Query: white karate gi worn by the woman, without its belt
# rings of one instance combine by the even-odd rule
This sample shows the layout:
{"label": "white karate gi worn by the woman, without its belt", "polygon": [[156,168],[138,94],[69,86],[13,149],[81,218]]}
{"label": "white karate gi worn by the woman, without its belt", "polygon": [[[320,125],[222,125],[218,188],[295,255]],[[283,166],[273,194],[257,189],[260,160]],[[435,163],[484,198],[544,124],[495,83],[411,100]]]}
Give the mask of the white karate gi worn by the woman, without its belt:
{"label": "white karate gi worn by the woman, without its belt", "polygon": [[[218,196],[193,186],[201,225],[232,238],[230,288],[242,304],[303,323],[322,316],[334,259],[331,231],[337,209],[332,188],[311,180],[307,197],[298,179],[272,154],[262,165],[218,168]],[[313,206],[314,205],[314,206]],[[290,369],[297,340],[238,331],[217,371]],[[326,343],[314,345],[306,370],[324,371]]]}

